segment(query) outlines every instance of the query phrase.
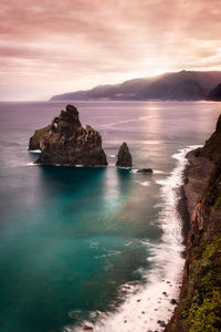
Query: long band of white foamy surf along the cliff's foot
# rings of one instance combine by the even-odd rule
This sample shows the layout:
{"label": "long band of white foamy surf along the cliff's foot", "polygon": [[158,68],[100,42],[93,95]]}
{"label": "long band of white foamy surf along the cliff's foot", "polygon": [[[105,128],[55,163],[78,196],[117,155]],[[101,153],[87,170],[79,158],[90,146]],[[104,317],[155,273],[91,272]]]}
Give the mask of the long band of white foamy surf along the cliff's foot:
{"label": "long band of white foamy surf along the cliff's foot", "polygon": [[103,313],[93,331],[164,331],[158,321],[167,323],[171,317],[175,307],[170,301],[178,299],[185,263],[181,256],[185,249],[182,221],[177,210],[180,195],[178,188],[183,184],[182,173],[188,163],[185,156],[196,147],[189,146],[172,155],[177,160],[175,169],[168,177],[158,180],[162,200],[158,219],[164,235],[159,245],[145,242],[150,250],[148,261],[154,264],[152,270],[144,272],[147,284],[139,290],[133,284],[124,284],[122,288],[128,289],[125,302],[116,313]]}

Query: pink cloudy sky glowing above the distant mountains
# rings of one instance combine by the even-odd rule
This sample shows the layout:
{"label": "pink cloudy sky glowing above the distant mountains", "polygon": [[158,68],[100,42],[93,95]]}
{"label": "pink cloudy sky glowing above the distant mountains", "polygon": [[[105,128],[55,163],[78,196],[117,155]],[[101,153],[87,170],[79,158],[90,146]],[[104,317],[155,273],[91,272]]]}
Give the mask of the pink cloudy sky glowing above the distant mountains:
{"label": "pink cloudy sky glowing above the distant mountains", "polygon": [[220,0],[1,0],[0,100],[221,70]]}

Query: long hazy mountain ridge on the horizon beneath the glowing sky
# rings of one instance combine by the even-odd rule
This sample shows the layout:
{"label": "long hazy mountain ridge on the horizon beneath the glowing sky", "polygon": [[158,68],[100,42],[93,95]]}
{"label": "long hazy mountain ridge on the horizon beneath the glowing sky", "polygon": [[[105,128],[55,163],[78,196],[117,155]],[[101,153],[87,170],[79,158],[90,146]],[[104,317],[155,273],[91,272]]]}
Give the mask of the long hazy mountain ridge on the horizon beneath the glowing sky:
{"label": "long hazy mountain ridge on the horizon beneath the glowing sky", "polygon": [[221,72],[180,71],[135,79],[116,85],[55,95],[51,101],[76,100],[203,100],[221,82]]}

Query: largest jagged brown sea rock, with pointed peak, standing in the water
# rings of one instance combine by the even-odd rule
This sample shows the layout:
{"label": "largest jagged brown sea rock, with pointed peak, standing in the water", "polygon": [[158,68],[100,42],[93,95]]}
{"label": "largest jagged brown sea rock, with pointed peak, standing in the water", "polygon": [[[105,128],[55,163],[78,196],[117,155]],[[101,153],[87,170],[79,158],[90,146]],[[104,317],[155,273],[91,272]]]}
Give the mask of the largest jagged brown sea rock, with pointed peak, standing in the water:
{"label": "largest jagged brown sea rock, with pointed peak, standing in the water", "polygon": [[78,111],[67,105],[60,116],[52,121],[40,139],[41,155],[35,162],[43,165],[106,166],[106,155],[102,148],[102,136],[91,126],[84,128],[78,120]]}

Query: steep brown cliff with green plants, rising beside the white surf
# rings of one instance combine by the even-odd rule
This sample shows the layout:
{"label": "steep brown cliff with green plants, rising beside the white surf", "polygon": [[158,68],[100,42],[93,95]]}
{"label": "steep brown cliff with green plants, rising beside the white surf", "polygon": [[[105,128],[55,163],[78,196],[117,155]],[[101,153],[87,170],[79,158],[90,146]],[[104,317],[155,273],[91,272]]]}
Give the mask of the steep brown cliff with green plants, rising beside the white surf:
{"label": "steep brown cliff with green plants, rising beside the white surf", "polygon": [[[221,116],[203,148],[188,154],[190,231],[180,299],[167,332],[221,331]],[[199,195],[200,194],[200,195]]]}

